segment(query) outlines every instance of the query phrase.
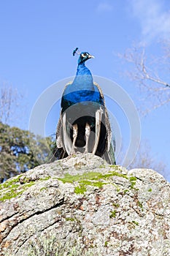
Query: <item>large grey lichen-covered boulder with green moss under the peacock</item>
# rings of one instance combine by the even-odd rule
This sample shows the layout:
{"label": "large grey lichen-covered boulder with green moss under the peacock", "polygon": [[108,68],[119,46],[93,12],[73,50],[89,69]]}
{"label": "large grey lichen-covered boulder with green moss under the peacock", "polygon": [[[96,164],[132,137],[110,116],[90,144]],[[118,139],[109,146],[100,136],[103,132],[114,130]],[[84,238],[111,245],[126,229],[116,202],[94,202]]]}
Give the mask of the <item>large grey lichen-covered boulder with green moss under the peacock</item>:
{"label": "large grey lichen-covered boulder with green moss under the peacock", "polygon": [[0,255],[170,255],[170,184],[77,154],[0,187]]}

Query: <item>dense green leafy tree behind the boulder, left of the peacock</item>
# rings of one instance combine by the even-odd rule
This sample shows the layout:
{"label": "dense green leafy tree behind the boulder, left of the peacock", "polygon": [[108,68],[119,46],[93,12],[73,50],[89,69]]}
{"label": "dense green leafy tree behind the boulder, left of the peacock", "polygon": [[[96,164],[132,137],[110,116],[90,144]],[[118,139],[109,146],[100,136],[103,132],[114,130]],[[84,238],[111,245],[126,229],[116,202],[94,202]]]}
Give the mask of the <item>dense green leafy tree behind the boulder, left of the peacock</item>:
{"label": "dense green leafy tree behind the boulder, left of the peacock", "polygon": [[41,138],[0,122],[0,183],[47,162],[49,147],[53,148],[51,138]]}

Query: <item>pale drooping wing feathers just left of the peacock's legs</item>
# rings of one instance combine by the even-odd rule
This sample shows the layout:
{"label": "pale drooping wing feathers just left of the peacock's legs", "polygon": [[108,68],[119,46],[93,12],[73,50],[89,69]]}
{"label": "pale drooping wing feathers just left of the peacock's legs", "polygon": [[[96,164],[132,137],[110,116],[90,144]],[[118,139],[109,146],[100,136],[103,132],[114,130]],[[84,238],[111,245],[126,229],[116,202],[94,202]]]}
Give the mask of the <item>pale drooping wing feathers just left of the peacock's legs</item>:
{"label": "pale drooping wing feathers just left of the peacock's legs", "polygon": [[72,151],[72,140],[69,138],[69,135],[68,135],[69,132],[67,131],[68,128],[70,130],[70,127],[69,125],[66,124],[66,113],[63,114],[62,123],[63,123],[63,145],[66,150],[66,153],[69,155]]}

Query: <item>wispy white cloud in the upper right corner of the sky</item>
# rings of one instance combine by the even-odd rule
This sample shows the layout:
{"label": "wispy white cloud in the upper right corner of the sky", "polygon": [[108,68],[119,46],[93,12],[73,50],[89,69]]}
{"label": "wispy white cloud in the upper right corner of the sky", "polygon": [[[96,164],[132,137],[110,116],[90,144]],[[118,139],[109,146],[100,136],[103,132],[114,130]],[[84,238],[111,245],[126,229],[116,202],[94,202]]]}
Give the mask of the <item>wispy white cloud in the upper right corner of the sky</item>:
{"label": "wispy white cloud in the upper right corner of the sky", "polygon": [[[139,19],[142,27],[142,39],[150,42],[155,38],[170,37],[170,4],[165,10],[160,0],[129,0],[133,14]],[[166,2],[167,4],[167,2]]]}

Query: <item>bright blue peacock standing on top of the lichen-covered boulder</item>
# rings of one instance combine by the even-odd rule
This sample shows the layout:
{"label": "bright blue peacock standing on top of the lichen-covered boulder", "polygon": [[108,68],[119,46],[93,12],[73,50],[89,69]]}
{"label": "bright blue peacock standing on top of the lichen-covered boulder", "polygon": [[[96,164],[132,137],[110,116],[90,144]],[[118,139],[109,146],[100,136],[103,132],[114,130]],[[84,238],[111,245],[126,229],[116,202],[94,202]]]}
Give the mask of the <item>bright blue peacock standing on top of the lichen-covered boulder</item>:
{"label": "bright blue peacock standing on top of the lichen-covered boulder", "polygon": [[63,159],[78,152],[92,153],[115,165],[115,140],[100,86],[93,82],[85,61],[94,58],[80,53],[74,80],[67,83],[61,97],[61,114],[56,130],[55,157]]}

